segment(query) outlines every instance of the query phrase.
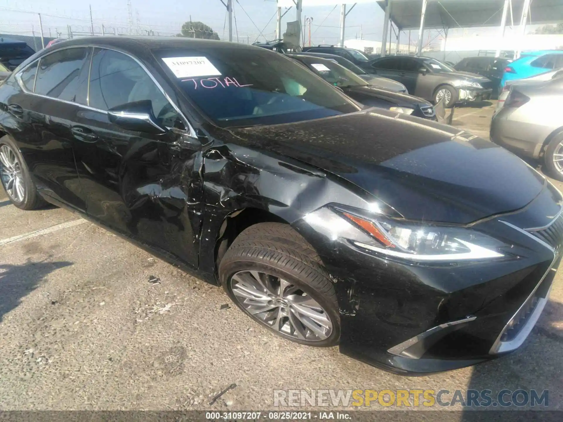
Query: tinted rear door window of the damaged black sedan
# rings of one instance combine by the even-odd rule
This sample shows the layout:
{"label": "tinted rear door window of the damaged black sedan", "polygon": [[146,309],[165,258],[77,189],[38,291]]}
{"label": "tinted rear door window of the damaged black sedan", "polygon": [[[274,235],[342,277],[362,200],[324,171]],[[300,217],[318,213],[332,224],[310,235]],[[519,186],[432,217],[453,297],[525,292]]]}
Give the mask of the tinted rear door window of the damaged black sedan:
{"label": "tinted rear door window of the damaged black sedan", "polygon": [[87,84],[79,87],[78,75],[86,64],[87,51],[86,47],[64,48],[41,57],[34,92],[65,101],[84,97]]}

